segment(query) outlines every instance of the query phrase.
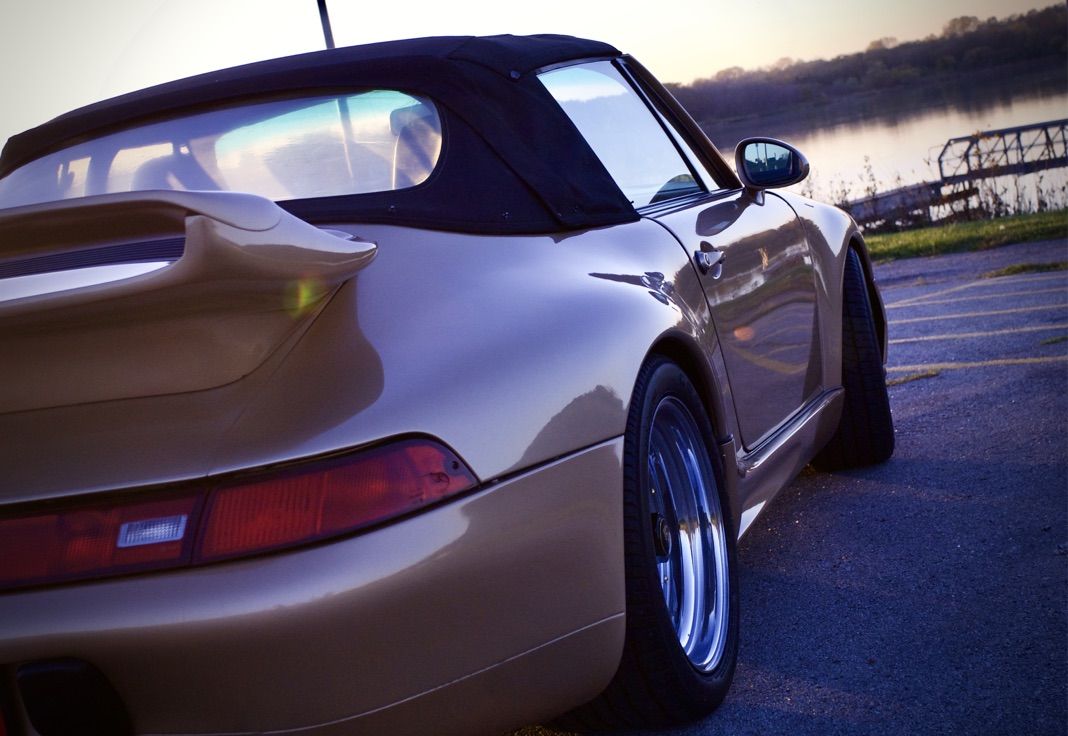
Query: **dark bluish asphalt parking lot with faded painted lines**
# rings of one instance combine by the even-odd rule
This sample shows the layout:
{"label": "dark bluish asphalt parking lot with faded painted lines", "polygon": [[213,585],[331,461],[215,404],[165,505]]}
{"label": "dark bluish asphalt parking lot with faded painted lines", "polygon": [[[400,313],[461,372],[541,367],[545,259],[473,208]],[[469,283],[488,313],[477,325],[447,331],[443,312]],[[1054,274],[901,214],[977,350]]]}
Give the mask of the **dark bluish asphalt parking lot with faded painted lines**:
{"label": "dark bluish asphalt parking lot with faded painted lines", "polygon": [[1068,734],[1068,271],[983,278],[1065,261],[876,268],[894,457],[805,470],[757,519],[734,687],[656,736]]}

